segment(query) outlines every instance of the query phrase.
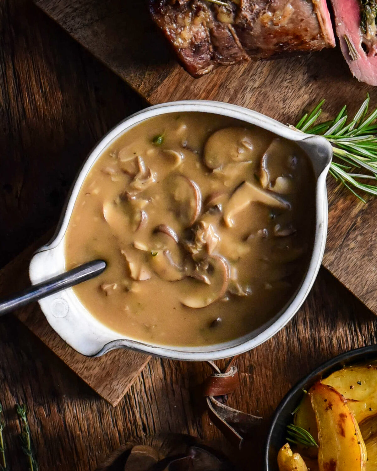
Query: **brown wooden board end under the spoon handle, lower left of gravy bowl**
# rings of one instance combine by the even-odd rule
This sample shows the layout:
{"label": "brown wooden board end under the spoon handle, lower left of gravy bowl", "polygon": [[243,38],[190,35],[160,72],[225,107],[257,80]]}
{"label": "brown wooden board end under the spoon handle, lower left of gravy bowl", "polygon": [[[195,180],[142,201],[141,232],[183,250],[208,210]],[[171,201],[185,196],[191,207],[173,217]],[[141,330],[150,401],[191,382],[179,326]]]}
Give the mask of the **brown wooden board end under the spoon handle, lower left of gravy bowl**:
{"label": "brown wooden board end under the spoon handle, lower left of gravy bowl", "polygon": [[[30,259],[48,240],[46,235],[0,270],[0,298],[30,284],[27,276]],[[16,317],[112,406],[123,398],[150,359],[148,355],[125,349],[112,350],[99,358],[84,357],[55,333],[36,303],[18,309]]]}

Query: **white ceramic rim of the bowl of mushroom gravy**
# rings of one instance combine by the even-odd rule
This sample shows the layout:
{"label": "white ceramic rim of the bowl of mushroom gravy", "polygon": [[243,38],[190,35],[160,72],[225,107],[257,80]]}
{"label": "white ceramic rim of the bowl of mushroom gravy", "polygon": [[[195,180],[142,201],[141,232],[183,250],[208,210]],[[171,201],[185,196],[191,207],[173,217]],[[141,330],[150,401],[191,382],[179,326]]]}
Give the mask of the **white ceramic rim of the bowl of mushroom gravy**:
{"label": "white ceramic rim of the bowl of mushroom gravy", "polygon": [[[57,321],[57,319],[52,318],[50,312],[51,309],[49,309],[48,306],[48,301],[50,297],[40,300],[39,303],[41,309],[44,312],[50,325],[69,345],[71,345],[74,349],[76,349],[80,353],[83,353],[84,355],[100,356],[111,349],[121,347],[134,349],[152,355],[157,355],[159,357],[168,357],[179,360],[213,360],[238,355],[260,345],[264,341],[267,341],[270,337],[279,332],[279,330],[282,329],[284,325],[287,324],[287,322],[289,322],[289,320],[295,315],[297,310],[300,308],[303,301],[306,299],[306,296],[310,291],[311,286],[314,283],[315,277],[317,276],[318,270],[320,268],[320,263],[322,260],[326,242],[328,218],[326,174],[331,162],[331,145],[328,143],[328,141],[326,141],[325,138],[319,136],[306,135],[301,133],[300,131],[292,130],[291,128],[285,126],[280,122],[277,122],[263,114],[254,112],[241,106],[207,100],[185,100],[151,106],[135,114],[132,114],[122,122],[115,125],[113,129],[109,130],[107,134],[98,141],[98,143],[94,146],[87,158],[84,160],[81,169],[76,175],[74,184],[71,187],[71,191],[67,196],[66,205],[62,210],[62,216],[58,223],[57,231],[55,232],[52,240],[49,242],[49,244],[41,247],[31,260],[29,275],[30,279],[32,280],[32,283],[37,283],[39,281],[42,281],[43,279],[41,278],[41,276],[38,276],[38,270],[36,269],[37,264],[35,263],[35,261],[38,258],[38,254],[47,251],[53,251],[59,246],[60,243],[64,241],[66,229],[73,211],[74,203],[77,199],[78,192],[80,191],[82,183],[86,178],[87,174],[89,173],[92,165],[97,161],[100,155],[105,151],[105,149],[109,145],[111,145],[112,142],[114,142],[116,138],[118,138],[122,133],[127,132],[127,130],[131,129],[132,126],[135,126],[142,121],[148,120],[151,117],[174,112],[201,112],[230,116],[238,120],[255,124],[264,129],[270,130],[271,132],[274,132],[279,136],[287,138],[291,141],[296,141],[298,144],[304,143],[307,146],[322,149],[322,152],[326,155],[327,160],[326,165],[324,165],[323,168],[320,169],[317,175],[316,232],[308,271],[303,278],[302,284],[298,287],[296,293],[293,295],[289,303],[281,311],[279,311],[276,316],[273,317],[269,324],[262,326],[260,329],[257,329],[251,338],[250,335],[246,335],[244,337],[239,337],[238,339],[235,339],[234,343],[237,341],[237,344],[225,346],[227,343],[230,342],[224,342],[224,344],[201,347],[201,350],[196,347],[153,345],[141,341],[119,338],[121,337],[119,333],[108,329],[105,325],[101,325],[99,321],[97,322],[98,325],[101,325],[102,331],[105,332],[107,330],[107,338],[109,339],[109,341],[103,342],[101,346],[97,344],[93,348],[89,348],[88,345],[85,345],[85,339],[80,342],[78,342],[77,339],[75,341],[72,340],[67,330],[67,324],[65,324],[64,328],[60,328],[58,326],[60,321]],[[319,215],[321,215],[320,223],[318,222]],[[46,277],[48,275],[46,274]],[[66,291],[69,292],[69,290],[72,290],[72,288]],[[84,306],[82,305],[81,308],[83,310],[86,310],[86,308],[84,308]],[[94,319],[93,316],[90,315],[90,317]],[[112,333],[113,335],[111,336],[110,333]],[[90,332],[90,335],[92,335],[92,332]],[[246,337],[249,338],[246,339]]]}

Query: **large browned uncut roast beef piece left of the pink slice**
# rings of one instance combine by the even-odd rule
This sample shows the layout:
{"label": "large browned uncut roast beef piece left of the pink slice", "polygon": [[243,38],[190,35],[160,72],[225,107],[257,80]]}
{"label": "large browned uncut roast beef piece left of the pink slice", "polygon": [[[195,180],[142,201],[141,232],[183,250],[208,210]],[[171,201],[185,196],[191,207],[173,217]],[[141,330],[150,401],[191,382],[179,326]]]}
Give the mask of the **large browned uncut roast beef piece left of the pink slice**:
{"label": "large browned uncut roast beef piece left of the pink slice", "polygon": [[335,46],[326,0],[226,3],[149,0],[154,21],[194,77],[245,61],[247,54],[270,59]]}

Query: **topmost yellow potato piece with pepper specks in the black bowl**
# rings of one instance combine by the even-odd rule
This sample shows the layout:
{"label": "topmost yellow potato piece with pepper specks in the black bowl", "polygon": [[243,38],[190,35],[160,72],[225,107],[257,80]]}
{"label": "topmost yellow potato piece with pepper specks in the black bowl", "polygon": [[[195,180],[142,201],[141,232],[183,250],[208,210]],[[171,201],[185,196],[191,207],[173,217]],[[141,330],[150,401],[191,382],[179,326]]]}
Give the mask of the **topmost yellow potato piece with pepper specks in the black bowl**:
{"label": "topmost yellow potato piece with pepper specks in the black bowl", "polygon": [[377,362],[345,366],[322,383],[332,386],[348,399],[348,406],[358,423],[377,414]]}

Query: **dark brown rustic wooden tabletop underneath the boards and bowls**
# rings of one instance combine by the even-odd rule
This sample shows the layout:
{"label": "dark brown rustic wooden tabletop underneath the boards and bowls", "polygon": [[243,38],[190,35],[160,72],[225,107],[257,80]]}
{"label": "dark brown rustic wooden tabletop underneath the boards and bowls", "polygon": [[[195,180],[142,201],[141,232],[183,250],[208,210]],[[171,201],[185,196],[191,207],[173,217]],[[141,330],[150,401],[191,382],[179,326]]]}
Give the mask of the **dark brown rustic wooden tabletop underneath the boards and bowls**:
{"label": "dark brown rustic wooden tabletop underneath the boards and bowls", "polygon": [[[31,1],[0,0],[0,266],[57,222],[91,146],[143,106]],[[30,410],[41,470],[92,471],[128,439],[160,431],[199,436],[238,460],[197,394],[210,373],[206,365],[152,359],[113,408],[15,319],[1,319],[0,339],[12,471],[27,469],[16,439],[16,402]],[[229,404],[268,419],[304,374],[376,339],[376,318],[322,268],[294,320],[238,358],[241,388]],[[261,459],[262,445],[255,448]],[[254,458],[253,464],[257,470]]]}

